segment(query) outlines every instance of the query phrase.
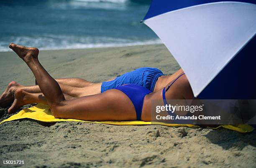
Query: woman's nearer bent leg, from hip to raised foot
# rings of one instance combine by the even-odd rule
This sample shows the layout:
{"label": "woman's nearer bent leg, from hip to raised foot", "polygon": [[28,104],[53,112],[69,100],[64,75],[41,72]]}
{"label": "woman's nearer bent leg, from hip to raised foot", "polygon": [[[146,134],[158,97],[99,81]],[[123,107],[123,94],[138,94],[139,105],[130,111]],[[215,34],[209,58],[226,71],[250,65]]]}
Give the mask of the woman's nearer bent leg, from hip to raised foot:
{"label": "woman's nearer bent leg, from hip to raised foot", "polygon": [[13,43],[10,44],[10,48],[26,62],[33,72],[54,117],[88,121],[136,119],[136,112],[131,100],[122,91],[116,89],[111,89],[103,94],[65,100],[58,82],[46,72],[38,61],[38,49]]}

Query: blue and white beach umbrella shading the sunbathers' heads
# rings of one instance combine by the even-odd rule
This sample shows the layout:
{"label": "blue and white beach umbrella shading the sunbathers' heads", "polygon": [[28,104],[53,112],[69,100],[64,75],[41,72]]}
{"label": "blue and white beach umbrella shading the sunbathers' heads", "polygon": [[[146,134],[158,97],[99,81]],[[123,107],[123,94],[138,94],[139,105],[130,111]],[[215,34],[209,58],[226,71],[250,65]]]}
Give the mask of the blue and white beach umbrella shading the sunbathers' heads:
{"label": "blue and white beach umbrella shading the sunbathers' heads", "polygon": [[256,99],[255,0],[152,0],[143,19],[195,97]]}

